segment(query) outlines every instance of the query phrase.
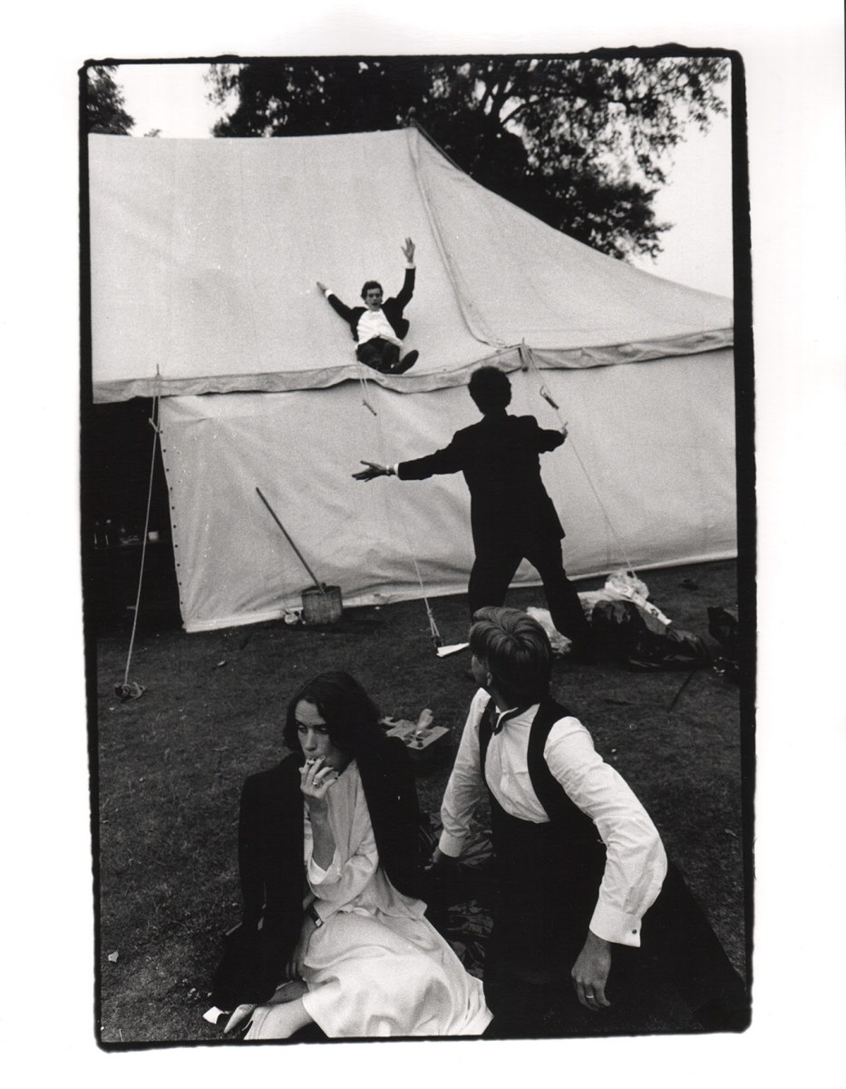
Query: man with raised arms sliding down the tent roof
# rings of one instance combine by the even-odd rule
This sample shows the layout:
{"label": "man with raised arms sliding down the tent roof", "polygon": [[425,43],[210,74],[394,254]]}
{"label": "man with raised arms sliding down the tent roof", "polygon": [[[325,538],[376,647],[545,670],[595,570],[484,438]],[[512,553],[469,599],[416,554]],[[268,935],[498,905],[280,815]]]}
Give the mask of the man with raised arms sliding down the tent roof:
{"label": "man with raised arms sliding down the tent roof", "polygon": [[357,358],[383,375],[402,375],[416,363],[419,352],[409,352],[400,358],[402,338],[408,334],[409,323],[402,311],[411,302],[414,292],[414,243],[406,238],[401,247],[406,255],[406,279],[396,297],[382,299],[382,284],[368,280],[361,289],[364,306],[346,306],[325,283],[318,280],[318,286],[326,296],[326,302],[349,325],[352,339],[359,342]]}

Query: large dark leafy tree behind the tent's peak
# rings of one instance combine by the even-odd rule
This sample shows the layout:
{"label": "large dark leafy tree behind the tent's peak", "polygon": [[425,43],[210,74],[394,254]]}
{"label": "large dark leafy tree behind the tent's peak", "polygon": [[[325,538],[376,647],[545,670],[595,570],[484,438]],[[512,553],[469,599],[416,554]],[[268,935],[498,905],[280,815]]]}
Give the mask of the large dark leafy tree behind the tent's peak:
{"label": "large dark leafy tree behind the tent's peak", "polygon": [[416,120],[475,181],[614,257],[660,253],[652,200],[688,124],[725,113],[714,57],[295,58],[215,64],[215,136]]}

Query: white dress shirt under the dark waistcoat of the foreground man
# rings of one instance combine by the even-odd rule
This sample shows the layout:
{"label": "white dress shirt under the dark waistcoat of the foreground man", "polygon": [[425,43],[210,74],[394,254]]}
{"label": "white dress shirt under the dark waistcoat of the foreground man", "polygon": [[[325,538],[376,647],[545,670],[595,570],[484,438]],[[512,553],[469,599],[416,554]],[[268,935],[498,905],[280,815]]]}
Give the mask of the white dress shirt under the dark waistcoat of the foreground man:
{"label": "white dress shirt under the dark waistcoat of the foreground man", "polygon": [[[487,748],[485,775],[480,768],[478,725],[489,695],[476,693],[449,776],[440,819],[438,846],[457,857],[466,840],[470,819],[485,794],[485,778],[499,805],[512,817],[536,824],[549,817],[528,774],[527,747],[538,705],[508,719]],[[507,712],[501,712],[507,713]],[[623,778],[594,748],[578,719],[559,719],[549,731],[544,759],[568,797],[596,824],[606,845],[605,873],[590,930],[609,942],[640,944],[640,923],[661,891],[667,855],[658,830]]]}

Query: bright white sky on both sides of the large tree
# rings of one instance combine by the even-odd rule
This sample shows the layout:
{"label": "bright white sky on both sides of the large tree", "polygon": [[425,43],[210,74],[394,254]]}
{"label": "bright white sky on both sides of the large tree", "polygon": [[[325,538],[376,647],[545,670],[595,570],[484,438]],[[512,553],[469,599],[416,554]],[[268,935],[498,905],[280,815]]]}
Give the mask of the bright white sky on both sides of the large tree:
{"label": "bright white sky on both sides of the large tree", "polygon": [[[161,136],[209,136],[221,115],[206,96],[208,64],[123,64],[115,81],[126,110],[135,119],[134,136],[160,129]],[[670,182],[656,197],[661,222],[673,224],[663,235],[656,261],[635,259],[638,268],[668,280],[734,294],[732,256],[732,133],[727,118],[717,118],[710,132],[691,129],[673,152]]]}

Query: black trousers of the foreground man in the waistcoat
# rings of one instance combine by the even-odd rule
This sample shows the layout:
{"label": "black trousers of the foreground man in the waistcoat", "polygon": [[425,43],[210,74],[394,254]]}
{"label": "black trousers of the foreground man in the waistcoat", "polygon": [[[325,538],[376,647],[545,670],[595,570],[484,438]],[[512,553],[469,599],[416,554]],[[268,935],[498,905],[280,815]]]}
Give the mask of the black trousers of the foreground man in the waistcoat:
{"label": "black trousers of the foreground man in the waistcoat", "polygon": [[[679,1018],[737,1031],[749,1023],[746,988],[677,868],[644,917],[642,945],[614,945],[608,996],[597,1015],[575,998],[570,970],[587,937],[604,869],[589,847],[556,865],[557,831],[506,813],[492,798],[500,895],[485,954],[484,982],[496,1028],[489,1035],[650,1031]],[[548,1024],[547,1024],[548,1023]]]}

